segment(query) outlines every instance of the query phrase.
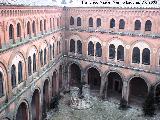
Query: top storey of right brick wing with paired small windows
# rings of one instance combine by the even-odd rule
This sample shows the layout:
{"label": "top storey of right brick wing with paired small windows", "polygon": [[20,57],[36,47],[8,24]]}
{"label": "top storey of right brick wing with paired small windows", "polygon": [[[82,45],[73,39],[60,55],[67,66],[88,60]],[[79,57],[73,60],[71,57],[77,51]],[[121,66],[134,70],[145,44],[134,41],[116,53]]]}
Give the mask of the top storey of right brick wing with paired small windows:
{"label": "top storey of right brick wing with paired small windows", "polygon": [[159,37],[158,9],[66,8],[70,30]]}

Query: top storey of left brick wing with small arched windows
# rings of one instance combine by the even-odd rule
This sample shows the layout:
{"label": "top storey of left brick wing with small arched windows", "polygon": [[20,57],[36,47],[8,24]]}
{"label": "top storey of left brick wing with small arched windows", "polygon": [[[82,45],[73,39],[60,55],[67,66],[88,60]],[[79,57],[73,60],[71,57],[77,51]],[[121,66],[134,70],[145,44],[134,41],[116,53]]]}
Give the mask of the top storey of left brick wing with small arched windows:
{"label": "top storey of left brick wing with small arched windows", "polygon": [[64,27],[61,7],[1,6],[1,51],[60,31]]}

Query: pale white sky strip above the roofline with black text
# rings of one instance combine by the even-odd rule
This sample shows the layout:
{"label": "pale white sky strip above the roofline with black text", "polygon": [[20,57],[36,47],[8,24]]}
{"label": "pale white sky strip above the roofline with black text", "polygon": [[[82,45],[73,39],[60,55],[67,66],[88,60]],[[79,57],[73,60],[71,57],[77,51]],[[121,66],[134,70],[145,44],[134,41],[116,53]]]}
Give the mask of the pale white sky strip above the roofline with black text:
{"label": "pale white sky strip above the roofline with black text", "polygon": [[[65,4],[62,4],[62,1],[63,0],[0,0],[0,3],[23,4],[31,6],[57,5],[70,7],[160,8],[160,0],[65,0]],[[70,3],[70,1],[73,2]],[[137,4],[137,2],[139,4]]]}

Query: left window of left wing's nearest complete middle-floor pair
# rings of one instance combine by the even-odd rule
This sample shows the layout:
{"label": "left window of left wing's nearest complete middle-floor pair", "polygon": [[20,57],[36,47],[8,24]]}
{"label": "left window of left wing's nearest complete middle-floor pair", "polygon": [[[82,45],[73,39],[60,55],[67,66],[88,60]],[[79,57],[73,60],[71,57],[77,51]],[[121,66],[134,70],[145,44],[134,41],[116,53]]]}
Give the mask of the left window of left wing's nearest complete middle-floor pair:
{"label": "left window of left wing's nearest complete middle-floor pair", "polygon": [[16,66],[12,65],[11,67],[11,83],[12,83],[12,88],[16,87]]}

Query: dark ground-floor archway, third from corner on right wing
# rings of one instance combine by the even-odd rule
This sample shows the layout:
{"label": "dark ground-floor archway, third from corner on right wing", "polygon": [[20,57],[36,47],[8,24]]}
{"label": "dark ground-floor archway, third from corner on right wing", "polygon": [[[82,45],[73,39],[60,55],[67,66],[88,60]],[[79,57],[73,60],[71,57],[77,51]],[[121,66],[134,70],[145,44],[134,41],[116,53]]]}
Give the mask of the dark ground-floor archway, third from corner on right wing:
{"label": "dark ground-floor archway, third from corner on right wing", "polygon": [[116,72],[108,74],[107,97],[120,99],[122,97],[122,77]]}

